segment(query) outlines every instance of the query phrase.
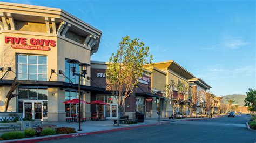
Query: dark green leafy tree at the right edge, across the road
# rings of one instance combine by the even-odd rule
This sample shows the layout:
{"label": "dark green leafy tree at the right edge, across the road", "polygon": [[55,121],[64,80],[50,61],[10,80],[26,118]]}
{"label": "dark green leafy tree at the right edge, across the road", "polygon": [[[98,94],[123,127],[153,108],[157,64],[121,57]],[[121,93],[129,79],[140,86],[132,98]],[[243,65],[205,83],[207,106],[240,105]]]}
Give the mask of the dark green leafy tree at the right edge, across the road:
{"label": "dark green leafy tree at the right edge, across the road", "polygon": [[248,110],[251,112],[256,111],[256,90],[249,89],[246,95],[245,106],[248,106]]}

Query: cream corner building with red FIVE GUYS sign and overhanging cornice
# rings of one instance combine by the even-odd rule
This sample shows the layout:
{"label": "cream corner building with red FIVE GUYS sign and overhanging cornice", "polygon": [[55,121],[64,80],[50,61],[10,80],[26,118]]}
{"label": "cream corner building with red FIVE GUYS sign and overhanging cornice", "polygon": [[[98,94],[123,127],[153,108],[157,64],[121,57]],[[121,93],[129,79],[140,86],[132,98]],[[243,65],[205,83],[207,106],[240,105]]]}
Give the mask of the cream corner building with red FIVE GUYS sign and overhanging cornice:
{"label": "cream corner building with red FIVE GUYS sign and overhanging cornice", "polygon": [[[63,104],[78,96],[78,76],[67,61],[90,64],[102,32],[62,9],[42,6],[0,2],[0,19],[0,111],[16,77],[19,95],[10,100],[8,112],[44,121],[77,114],[76,104]],[[84,70],[82,98],[91,101],[91,92],[105,89],[92,87],[90,66]],[[83,105],[83,116],[90,111]]]}

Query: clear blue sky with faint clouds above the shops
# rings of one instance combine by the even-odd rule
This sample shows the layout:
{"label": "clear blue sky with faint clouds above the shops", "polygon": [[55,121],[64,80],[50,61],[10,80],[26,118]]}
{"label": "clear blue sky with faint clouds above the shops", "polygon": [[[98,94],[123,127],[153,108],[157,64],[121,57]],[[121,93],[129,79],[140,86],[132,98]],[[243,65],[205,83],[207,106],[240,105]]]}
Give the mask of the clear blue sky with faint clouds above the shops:
{"label": "clear blue sky with faint clouds above the shops", "polygon": [[150,47],[153,62],[176,61],[218,96],[256,88],[253,0],[6,2],[62,8],[101,30],[92,60],[108,60],[129,35]]}

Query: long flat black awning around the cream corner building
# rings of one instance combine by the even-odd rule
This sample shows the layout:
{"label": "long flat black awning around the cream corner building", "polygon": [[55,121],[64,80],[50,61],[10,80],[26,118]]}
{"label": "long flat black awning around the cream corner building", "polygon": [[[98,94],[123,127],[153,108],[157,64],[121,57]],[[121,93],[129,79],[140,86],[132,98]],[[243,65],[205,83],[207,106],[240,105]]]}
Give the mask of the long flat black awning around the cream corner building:
{"label": "long flat black awning around the cream corner building", "polygon": [[[17,80],[17,82],[21,83],[20,86],[43,86],[43,87],[60,87],[60,88],[71,88],[78,89],[78,84],[71,84],[60,81],[29,81],[29,80]],[[12,80],[0,80],[0,86],[10,85],[12,84]],[[105,88],[93,87],[81,85],[81,90],[84,91],[95,91],[98,93],[104,93]]]}

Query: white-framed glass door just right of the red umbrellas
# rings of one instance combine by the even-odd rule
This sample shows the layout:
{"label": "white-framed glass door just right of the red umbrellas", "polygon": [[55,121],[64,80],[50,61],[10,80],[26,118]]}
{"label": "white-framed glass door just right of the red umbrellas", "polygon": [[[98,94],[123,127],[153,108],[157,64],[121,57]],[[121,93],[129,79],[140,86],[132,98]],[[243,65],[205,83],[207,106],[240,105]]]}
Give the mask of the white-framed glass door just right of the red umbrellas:
{"label": "white-framed glass door just right of the red umbrellas", "polygon": [[118,114],[117,104],[109,104],[104,106],[105,106],[106,119],[117,119],[117,114]]}

